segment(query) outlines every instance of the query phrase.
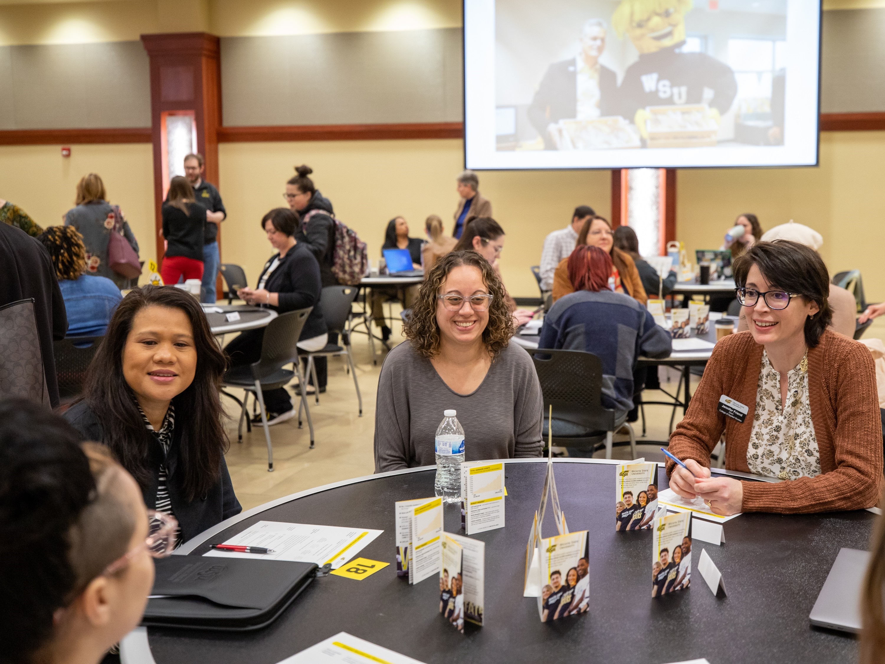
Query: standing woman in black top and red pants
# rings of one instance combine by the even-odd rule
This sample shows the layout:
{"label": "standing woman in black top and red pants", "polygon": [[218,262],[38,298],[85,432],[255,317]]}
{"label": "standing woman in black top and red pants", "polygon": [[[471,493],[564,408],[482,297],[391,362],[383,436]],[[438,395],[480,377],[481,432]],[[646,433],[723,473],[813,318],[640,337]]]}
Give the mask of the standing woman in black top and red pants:
{"label": "standing woman in black top and red pants", "polygon": [[163,204],[163,237],[166,249],[160,276],[167,286],[203,278],[203,232],[206,209],[194,200],[194,189],[180,175],[169,182]]}

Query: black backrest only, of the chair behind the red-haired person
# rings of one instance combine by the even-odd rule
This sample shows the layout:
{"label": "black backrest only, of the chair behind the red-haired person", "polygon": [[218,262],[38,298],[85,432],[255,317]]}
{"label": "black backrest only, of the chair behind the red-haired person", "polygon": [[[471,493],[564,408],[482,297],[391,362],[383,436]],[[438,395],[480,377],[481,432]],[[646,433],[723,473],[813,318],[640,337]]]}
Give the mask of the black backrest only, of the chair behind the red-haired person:
{"label": "black backrest only, of the chair behind the red-haired person", "polygon": [[585,351],[529,351],[541,382],[544,416],[550,405],[553,417],[606,429],[615,412],[602,405],[603,363]]}

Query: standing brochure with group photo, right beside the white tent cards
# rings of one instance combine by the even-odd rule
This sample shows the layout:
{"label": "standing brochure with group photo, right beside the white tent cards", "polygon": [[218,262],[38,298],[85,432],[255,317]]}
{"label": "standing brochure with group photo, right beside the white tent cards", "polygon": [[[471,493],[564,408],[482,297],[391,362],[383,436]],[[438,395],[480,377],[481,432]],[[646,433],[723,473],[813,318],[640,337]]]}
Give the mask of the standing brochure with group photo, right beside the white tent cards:
{"label": "standing brochure with group photo, right beside the white tent cards", "polygon": [[681,591],[691,583],[691,513],[681,512],[653,521],[651,597]]}

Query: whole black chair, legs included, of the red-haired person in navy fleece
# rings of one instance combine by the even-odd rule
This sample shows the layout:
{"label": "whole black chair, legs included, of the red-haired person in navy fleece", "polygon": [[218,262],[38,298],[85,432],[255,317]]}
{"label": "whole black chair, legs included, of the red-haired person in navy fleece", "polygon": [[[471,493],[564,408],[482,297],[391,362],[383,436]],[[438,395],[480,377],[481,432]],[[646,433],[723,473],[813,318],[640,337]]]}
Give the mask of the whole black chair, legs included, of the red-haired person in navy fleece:
{"label": "whole black chair, legs included, of the red-haired person in navy fleece", "polygon": [[548,440],[548,412],[553,406],[553,443],[596,452],[605,448],[612,458],[612,436],[623,427],[630,436],[630,452],[636,458],[636,436],[627,413],[602,405],[603,365],[596,355],[584,351],[530,351],[541,382],[544,399],[543,436]]}

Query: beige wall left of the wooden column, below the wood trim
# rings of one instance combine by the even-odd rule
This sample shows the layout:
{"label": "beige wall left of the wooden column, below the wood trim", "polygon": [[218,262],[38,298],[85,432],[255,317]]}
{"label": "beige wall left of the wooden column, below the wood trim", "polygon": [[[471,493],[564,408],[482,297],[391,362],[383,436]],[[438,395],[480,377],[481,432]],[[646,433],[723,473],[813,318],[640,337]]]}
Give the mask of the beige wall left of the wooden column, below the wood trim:
{"label": "beige wall left of the wooden column, below the wood trim", "polygon": [[108,197],[138,239],[145,264],[155,259],[150,144],[73,145],[69,158],[61,156],[58,145],[0,146],[0,198],[22,207],[43,228],[63,223],[77,182],[88,173],[102,176]]}

